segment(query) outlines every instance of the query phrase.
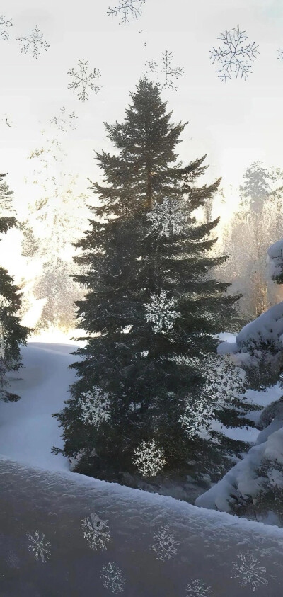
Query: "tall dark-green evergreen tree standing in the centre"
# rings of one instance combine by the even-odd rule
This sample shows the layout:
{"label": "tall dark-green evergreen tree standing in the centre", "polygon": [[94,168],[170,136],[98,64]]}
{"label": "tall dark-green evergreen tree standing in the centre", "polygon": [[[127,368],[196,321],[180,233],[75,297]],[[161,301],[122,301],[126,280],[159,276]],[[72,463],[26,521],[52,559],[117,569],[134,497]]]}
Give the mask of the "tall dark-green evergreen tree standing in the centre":
{"label": "tall dark-green evergreen tree standing in the centre", "polygon": [[96,153],[105,185],[92,183],[100,205],[77,245],[88,337],[72,365],[80,379],[54,415],[64,454],[79,455],[76,470],[124,482],[121,472],[187,473],[194,458],[204,472],[209,440],[217,452],[208,430],[221,406],[209,363],[236,300],[210,276],[226,259],[209,253],[219,220],[198,224],[194,214],[219,180],[196,185],[205,156],[178,161],[185,125],[171,123],[158,84],[141,79],[131,98],[125,122],[105,125],[119,153]]}

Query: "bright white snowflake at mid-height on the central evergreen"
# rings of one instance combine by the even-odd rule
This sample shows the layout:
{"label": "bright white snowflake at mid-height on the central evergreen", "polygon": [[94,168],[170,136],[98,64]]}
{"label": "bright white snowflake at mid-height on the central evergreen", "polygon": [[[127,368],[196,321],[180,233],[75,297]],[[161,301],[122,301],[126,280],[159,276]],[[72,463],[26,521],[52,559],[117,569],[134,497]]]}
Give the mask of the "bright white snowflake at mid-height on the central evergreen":
{"label": "bright white snowflake at mid-height on the central evergreen", "polygon": [[154,326],[155,334],[165,334],[171,331],[180,312],[175,309],[177,300],[168,298],[167,292],[161,290],[158,295],[151,295],[151,302],[145,303],[146,322]]}

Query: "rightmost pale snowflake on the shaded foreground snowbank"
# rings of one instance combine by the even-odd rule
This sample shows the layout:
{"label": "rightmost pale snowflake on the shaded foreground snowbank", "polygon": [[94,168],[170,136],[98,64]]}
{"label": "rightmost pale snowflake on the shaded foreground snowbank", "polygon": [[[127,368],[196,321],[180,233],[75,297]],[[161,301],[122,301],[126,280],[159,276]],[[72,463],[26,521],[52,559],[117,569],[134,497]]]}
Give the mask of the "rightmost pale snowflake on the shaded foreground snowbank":
{"label": "rightmost pale snowflake on the shaded foreground snowbank", "polygon": [[254,592],[260,585],[268,584],[265,578],[266,568],[261,566],[253,554],[240,554],[237,562],[232,564],[234,568],[232,577],[239,579],[242,586],[248,586]]}

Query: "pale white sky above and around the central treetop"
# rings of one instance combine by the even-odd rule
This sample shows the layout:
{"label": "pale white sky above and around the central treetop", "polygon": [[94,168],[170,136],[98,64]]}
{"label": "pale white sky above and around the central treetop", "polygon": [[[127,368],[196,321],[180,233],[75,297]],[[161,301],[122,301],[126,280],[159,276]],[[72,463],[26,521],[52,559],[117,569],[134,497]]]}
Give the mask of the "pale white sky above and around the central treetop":
{"label": "pale white sky above and around the central treetop", "polygon": [[[7,0],[1,12],[12,18],[10,39],[0,39],[0,163],[18,204],[28,202],[23,176],[27,157],[39,144],[40,130],[65,106],[78,115],[77,130],[67,137],[69,171],[95,180],[100,172],[93,150],[112,151],[103,121],[122,120],[139,76],[148,60],[173,53],[173,64],[184,68],[178,91],[164,91],[175,122],[189,121],[179,145],[180,157],[190,161],[207,153],[207,181],[222,176],[225,188],[238,185],[251,161],[267,165],[283,162],[283,47],[282,0],[146,0],[142,16],[126,27],[109,18],[109,6],[119,0]],[[25,6],[25,8],[23,8]],[[40,6],[40,8],[39,8]],[[28,35],[35,25],[50,44],[37,59],[21,53],[16,37]],[[240,26],[259,45],[247,81],[221,83],[209,60],[225,29]],[[145,45],[146,44],[146,45]],[[82,103],[67,89],[68,69],[79,59],[99,69],[103,86]],[[12,127],[5,123],[6,116]],[[86,181],[86,186],[87,186]],[[226,213],[236,198],[229,195]],[[224,207],[219,205],[219,210]]]}

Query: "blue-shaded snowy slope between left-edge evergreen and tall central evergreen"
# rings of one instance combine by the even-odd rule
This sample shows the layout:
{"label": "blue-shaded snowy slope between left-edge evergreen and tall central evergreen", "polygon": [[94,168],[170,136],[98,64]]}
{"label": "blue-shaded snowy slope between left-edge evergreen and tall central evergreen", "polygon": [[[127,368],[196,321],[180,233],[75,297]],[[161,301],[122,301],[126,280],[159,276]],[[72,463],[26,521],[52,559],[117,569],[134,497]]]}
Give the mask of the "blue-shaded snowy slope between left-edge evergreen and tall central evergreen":
{"label": "blue-shaded snowy slope between left-edge evergreen and tall central evergreen", "polygon": [[40,342],[23,348],[25,368],[11,375],[11,390],[21,400],[0,402],[0,455],[46,470],[69,470],[67,459],[51,453],[53,445],[63,445],[51,415],[69,398],[76,373],[68,366],[76,360],[70,354],[75,350],[74,345]]}

